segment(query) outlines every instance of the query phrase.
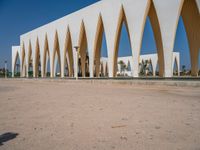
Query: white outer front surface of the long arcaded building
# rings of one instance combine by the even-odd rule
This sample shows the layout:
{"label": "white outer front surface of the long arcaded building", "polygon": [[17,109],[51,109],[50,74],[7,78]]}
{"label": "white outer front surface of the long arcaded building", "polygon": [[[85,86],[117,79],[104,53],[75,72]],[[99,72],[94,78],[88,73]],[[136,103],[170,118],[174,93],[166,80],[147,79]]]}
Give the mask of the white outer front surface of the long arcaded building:
{"label": "white outer front surface of the long arcaded building", "polygon": [[[186,0],[185,0],[186,1]],[[200,10],[200,0],[195,0],[197,9]],[[140,49],[142,43],[142,37],[144,32],[144,26],[146,18],[149,15],[150,8],[155,8],[153,17],[158,19],[158,32],[156,35],[161,36],[161,41],[157,41],[157,44],[161,45],[160,62],[163,62],[161,66],[164,70],[164,77],[172,77],[172,64],[173,64],[173,48],[176,35],[176,29],[178,20],[181,14],[181,10],[184,4],[184,0],[102,0],[86,8],[83,8],[77,12],[69,14],[63,18],[46,24],[42,27],[34,29],[28,33],[20,36],[20,47],[13,47],[13,59],[12,64],[15,61],[16,51],[20,54],[25,53],[25,61],[21,62],[21,74],[22,76],[28,76],[28,63],[30,59],[30,49],[32,50],[33,59],[33,72],[34,77],[36,75],[37,56],[39,51],[42,77],[44,77],[44,64],[45,58],[45,37],[47,37],[48,50],[50,55],[50,70],[51,77],[55,76],[55,64],[57,60],[60,60],[61,65],[61,77],[64,77],[64,62],[66,52],[67,34],[69,33],[71,38],[72,48],[74,46],[80,46],[81,29],[84,28],[87,38],[87,49],[89,53],[89,70],[90,77],[93,77],[94,72],[94,49],[95,49],[95,37],[97,33],[99,16],[102,17],[103,26],[106,35],[107,49],[108,49],[108,68],[109,77],[114,76],[114,63],[116,63],[115,53],[117,52],[116,43],[118,33],[120,32],[119,25],[123,20],[119,20],[120,17],[125,16],[128,32],[130,35],[130,42],[132,48],[132,76],[138,77],[139,75],[139,61],[140,61]],[[152,25],[155,25],[154,22]],[[154,27],[154,26],[153,26]],[[68,37],[69,38],[69,37]],[[56,54],[56,40],[59,43],[60,55]],[[37,48],[38,47],[38,48]],[[19,50],[20,48],[20,50]],[[16,50],[17,49],[17,50]],[[56,57],[56,58],[55,58]],[[73,67],[74,76],[77,74],[76,54],[73,49]],[[157,62],[152,59],[152,63]],[[14,64],[13,64],[14,65]],[[134,68],[134,69],[133,69]],[[14,66],[12,67],[14,71]]]}

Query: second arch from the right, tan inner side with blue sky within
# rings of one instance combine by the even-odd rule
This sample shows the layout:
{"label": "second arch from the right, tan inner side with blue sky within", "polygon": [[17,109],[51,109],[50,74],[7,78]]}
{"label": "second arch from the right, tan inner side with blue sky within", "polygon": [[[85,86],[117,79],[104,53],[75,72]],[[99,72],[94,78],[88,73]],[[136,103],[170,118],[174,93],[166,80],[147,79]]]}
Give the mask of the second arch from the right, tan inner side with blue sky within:
{"label": "second arch from the right, tan inner side with blue sky within", "polygon": [[152,67],[152,75],[164,76],[164,55],[162,37],[158,16],[153,2],[150,3],[150,8],[146,17],[146,23],[144,26],[144,33],[142,38],[142,48],[140,53],[143,55],[157,54],[157,58],[155,57],[156,60],[147,60],[146,63],[149,67],[151,67],[152,62],[158,60],[156,70]]}

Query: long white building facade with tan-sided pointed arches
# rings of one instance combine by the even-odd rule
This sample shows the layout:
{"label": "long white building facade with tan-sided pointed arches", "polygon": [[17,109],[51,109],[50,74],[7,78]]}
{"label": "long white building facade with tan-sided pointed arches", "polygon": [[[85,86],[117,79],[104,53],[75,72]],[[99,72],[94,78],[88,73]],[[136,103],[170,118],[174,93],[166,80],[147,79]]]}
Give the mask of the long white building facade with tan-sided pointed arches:
{"label": "long white building facade with tan-sided pointed arches", "polygon": [[[120,32],[122,24],[125,23],[132,49],[132,76],[138,77],[144,26],[149,17],[157,46],[159,75],[172,77],[173,48],[180,16],[183,18],[189,42],[191,73],[197,76],[200,50],[200,0],[99,1],[21,35],[20,46],[12,47],[13,75],[16,58],[19,55],[22,77],[28,77],[30,62],[34,77],[38,77],[40,71],[41,77],[46,77],[48,61],[51,77],[56,75],[57,64],[60,64],[61,77],[65,76],[66,66],[70,77],[77,76],[78,68],[85,77],[87,56],[89,76],[94,77],[96,74],[98,77],[101,67],[102,35],[105,32],[108,76],[115,77]],[[79,47],[78,52],[74,50],[76,46]]]}

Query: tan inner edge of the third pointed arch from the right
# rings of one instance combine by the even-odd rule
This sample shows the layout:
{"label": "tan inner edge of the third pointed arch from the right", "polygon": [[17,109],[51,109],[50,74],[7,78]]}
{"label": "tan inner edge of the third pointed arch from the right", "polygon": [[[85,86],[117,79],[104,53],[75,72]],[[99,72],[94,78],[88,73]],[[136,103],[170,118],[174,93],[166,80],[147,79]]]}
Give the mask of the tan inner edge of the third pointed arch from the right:
{"label": "tan inner edge of the third pointed arch from the right", "polygon": [[123,23],[125,23],[127,33],[128,33],[128,37],[129,37],[129,43],[131,45],[130,32],[129,32],[129,28],[128,28],[126,14],[125,14],[125,11],[124,11],[124,8],[123,8],[123,5],[122,5],[121,10],[120,10],[120,14],[119,14],[117,31],[116,31],[116,36],[115,36],[115,44],[114,44],[114,57],[113,57],[113,62],[114,62],[113,63],[113,73],[114,73],[114,75],[113,76],[114,77],[116,77],[116,74],[117,74],[117,58],[118,58],[118,50],[119,50],[119,40],[120,40],[120,34],[121,34]]}

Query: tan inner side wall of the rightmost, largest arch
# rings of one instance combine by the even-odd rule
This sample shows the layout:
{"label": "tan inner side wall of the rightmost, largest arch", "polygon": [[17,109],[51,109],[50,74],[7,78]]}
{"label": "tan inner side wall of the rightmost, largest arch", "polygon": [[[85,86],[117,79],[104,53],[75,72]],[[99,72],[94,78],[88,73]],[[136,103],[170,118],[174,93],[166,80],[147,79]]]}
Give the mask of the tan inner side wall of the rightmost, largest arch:
{"label": "tan inner side wall of the rightmost, largest arch", "polygon": [[[200,51],[200,14],[195,0],[184,0],[181,14],[190,48],[191,74],[198,76],[198,53]],[[178,21],[177,21],[178,26]]]}

